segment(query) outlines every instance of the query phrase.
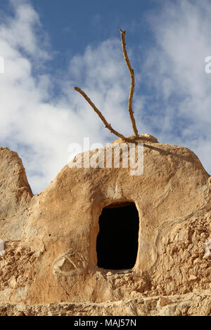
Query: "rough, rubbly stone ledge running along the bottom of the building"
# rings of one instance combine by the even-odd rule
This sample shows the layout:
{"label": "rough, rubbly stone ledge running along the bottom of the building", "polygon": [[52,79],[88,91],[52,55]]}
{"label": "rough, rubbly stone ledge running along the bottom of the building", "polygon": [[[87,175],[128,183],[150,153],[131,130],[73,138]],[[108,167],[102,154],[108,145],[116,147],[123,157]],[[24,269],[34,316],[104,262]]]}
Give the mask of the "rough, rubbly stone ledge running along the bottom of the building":
{"label": "rough, rubbly stone ledge running along the bottom of the building", "polygon": [[211,316],[210,293],[155,296],[106,303],[0,304],[4,316]]}

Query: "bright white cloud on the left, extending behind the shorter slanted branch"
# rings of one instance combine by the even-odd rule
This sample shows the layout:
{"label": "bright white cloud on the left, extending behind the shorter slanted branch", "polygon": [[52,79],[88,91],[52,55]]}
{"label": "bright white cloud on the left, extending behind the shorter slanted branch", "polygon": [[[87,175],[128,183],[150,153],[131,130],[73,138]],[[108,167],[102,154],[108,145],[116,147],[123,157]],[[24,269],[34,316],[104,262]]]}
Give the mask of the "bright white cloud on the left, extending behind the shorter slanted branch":
{"label": "bright white cloud on the left, extending behind the shorter slanted branch", "polygon": [[[11,1],[15,15],[0,25],[0,49],[5,73],[0,75],[1,145],[18,152],[34,193],[46,187],[68,162],[68,145],[115,140],[81,95],[84,88],[114,128],[130,134],[127,97],[129,72],[120,41],[110,39],[84,55],[70,60],[68,74],[57,80],[61,95],[51,98],[51,85],[58,77],[45,73],[51,58],[49,45],[40,42],[39,15],[28,1]],[[34,66],[42,70],[34,74]]]}

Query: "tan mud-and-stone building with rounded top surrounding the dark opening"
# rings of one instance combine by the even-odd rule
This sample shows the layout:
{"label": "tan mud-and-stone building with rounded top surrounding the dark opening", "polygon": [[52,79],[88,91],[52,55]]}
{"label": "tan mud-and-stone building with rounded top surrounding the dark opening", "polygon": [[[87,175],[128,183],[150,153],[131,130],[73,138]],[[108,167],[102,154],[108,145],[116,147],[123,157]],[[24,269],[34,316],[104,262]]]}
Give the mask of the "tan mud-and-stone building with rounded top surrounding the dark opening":
{"label": "tan mud-and-stone building with rounded top surrounding the dark opening", "polygon": [[[34,196],[18,155],[0,149],[1,315],[209,315],[210,176],[185,147],[139,142],[140,176],[67,165]],[[98,268],[101,211],[127,201],[139,211],[136,264]]]}

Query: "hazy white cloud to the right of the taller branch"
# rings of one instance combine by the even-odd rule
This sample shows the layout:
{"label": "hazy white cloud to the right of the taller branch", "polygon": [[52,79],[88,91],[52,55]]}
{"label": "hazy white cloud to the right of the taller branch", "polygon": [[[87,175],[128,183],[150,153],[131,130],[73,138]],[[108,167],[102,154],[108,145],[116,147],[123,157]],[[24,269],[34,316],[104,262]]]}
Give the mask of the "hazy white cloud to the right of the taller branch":
{"label": "hazy white cloud to the right of the taller branch", "polygon": [[[191,147],[211,172],[210,1],[165,1],[149,16],[155,46],[148,53],[146,74],[154,95],[153,127],[158,138]],[[150,82],[149,82],[150,81]],[[157,125],[157,126],[155,126]]]}

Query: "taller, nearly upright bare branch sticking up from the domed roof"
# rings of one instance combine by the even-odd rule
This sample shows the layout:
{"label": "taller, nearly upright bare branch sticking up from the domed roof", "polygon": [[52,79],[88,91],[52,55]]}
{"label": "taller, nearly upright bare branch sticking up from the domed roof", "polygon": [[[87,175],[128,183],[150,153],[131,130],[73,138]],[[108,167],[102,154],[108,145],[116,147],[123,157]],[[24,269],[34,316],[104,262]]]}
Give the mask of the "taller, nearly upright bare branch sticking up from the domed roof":
{"label": "taller, nearly upright bare branch sticking up from the domed roof", "polygon": [[138,130],[136,128],[136,121],[134,119],[134,111],[132,109],[132,99],[133,99],[133,95],[134,95],[134,86],[135,86],[134,70],[132,69],[132,66],[130,65],[130,62],[129,62],[129,58],[127,56],[126,44],[125,44],[126,31],[122,31],[122,29],[120,29],[120,33],[121,33],[121,39],[122,39],[122,53],[124,55],[124,60],[127,63],[127,67],[128,67],[129,74],[131,77],[131,86],[130,86],[129,99],[128,99],[129,117],[132,121],[132,128],[134,130],[135,136],[139,136]]}

